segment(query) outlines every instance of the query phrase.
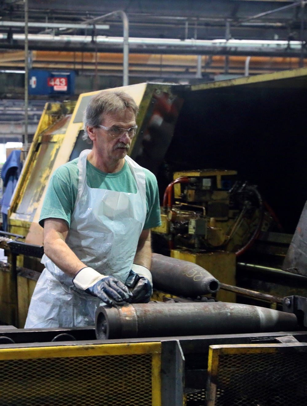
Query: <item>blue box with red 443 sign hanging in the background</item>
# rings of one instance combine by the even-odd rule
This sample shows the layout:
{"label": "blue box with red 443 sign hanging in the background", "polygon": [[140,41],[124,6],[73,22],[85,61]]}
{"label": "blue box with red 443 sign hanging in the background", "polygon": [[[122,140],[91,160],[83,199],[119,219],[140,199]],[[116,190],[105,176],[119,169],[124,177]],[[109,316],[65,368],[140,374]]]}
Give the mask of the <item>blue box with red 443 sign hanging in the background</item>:
{"label": "blue box with red 443 sign hanging in the background", "polygon": [[73,95],[75,72],[29,70],[29,95]]}

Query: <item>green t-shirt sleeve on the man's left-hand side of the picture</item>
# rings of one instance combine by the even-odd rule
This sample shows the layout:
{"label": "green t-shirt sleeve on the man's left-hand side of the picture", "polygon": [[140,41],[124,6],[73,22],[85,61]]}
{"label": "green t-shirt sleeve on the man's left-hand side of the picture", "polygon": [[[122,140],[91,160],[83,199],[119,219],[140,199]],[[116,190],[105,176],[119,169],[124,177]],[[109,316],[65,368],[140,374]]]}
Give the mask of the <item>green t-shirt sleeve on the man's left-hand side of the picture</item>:
{"label": "green t-shirt sleeve on the man's left-hand side of the picture", "polygon": [[55,172],[49,182],[44,199],[39,225],[44,227],[46,218],[62,218],[70,227],[73,211],[72,186],[63,181]]}

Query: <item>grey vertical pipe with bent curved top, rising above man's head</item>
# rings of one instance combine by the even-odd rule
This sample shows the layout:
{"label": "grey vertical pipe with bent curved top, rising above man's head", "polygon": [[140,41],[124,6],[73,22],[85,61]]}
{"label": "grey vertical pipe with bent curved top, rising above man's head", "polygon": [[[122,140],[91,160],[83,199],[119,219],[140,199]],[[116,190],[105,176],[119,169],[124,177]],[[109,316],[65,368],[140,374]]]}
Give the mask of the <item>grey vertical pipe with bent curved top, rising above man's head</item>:
{"label": "grey vertical pipe with bent curved top, rising above man's head", "polygon": [[[126,13],[122,10],[112,11],[101,15],[100,17],[95,17],[90,20],[85,21],[85,24],[95,24],[97,21],[110,17],[111,15],[118,15],[122,19],[123,24],[123,86],[128,86],[129,84],[129,19]],[[96,37],[96,42],[98,43],[98,37]]]}

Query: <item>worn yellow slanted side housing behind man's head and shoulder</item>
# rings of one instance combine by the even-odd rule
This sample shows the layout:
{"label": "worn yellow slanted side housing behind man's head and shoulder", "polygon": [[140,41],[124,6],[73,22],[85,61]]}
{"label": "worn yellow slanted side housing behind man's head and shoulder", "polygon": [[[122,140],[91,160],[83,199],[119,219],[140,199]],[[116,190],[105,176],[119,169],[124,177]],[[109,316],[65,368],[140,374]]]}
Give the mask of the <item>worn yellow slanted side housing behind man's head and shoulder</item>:
{"label": "worn yellow slanted side housing behind man's head and shoulder", "polygon": [[[168,148],[181,105],[172,93],[172,86],[146,84],[120,88],[129,93],[139,105],[138,132],[129,154],[137,158],[142,151],[142,139],[161,137],[151,142],[159,149],[150,163],[159,166]],[[43,229],[38,225],[46,187],[56,168],[77,158],[90,148],[82,140],[83,111],[98,92],[84,93],[77,102],[47,103],[31,144],[24,170],[20,176],[9,215],[9,231],[26,236],[26,241],[41,245]],[[157,124],[158,123],[158,124]],[[160,132],[160,134],[159,134]],[[142,153],[142,152],[141,152]]]}

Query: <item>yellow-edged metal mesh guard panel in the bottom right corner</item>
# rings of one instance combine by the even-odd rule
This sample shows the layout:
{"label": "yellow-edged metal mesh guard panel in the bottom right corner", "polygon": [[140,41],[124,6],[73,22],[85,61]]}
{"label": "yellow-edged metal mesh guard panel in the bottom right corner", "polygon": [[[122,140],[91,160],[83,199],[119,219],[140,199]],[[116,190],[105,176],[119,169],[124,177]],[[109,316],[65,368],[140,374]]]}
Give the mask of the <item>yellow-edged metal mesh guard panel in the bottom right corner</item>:
{"label": "yellow-edged metal mesh guard panel in the bottom right corner", "polygon": [[307,405],[307,354],[219,356],[215,406]]}

